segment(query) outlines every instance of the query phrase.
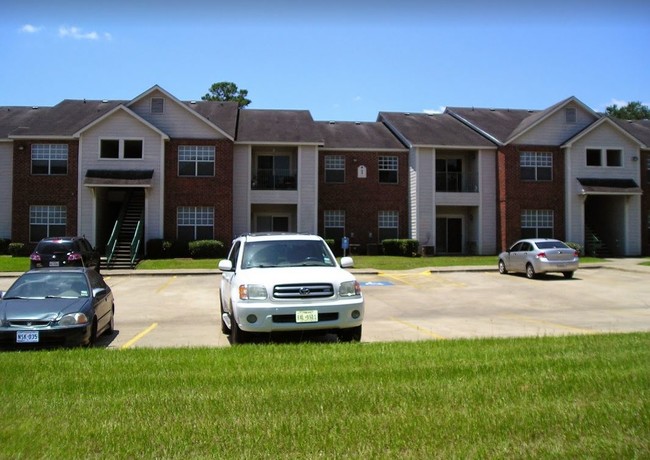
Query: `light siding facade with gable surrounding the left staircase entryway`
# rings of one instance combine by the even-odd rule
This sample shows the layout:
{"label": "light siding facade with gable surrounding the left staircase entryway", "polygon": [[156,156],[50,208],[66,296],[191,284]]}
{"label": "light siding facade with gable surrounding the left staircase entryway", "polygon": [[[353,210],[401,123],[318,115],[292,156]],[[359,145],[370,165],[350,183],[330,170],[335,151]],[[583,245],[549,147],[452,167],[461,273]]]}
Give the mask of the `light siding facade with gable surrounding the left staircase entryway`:
{"label": "light siding facade with gable surrounding the left staircase entryway", "polygon": [[[142,139],[142,159],[100,159],[100,139]],[[145,241],[162,238],[163,235],[163,151],[161,135],[140,123],[126,112],[117,111],[98,125],[85,131],[79,140],[79,229],[94,245],[95,241],[95,197],[92,189],[83,185],[88,169],[153,169],[150,189],[146,190]],[[90,237],[92,235],[92,237]]]}

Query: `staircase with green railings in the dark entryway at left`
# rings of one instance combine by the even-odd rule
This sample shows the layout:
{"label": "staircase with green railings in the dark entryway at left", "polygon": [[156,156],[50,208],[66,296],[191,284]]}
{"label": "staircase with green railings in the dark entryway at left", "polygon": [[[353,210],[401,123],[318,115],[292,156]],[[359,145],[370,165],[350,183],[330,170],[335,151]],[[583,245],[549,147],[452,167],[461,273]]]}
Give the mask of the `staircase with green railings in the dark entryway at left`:
{"label": "staircase with green railings in the dark entryway at left", "polygon": [[106,267],[133,268],[143,247],[144,190],[134,189],[122,205],[119,219],[106,246]]}

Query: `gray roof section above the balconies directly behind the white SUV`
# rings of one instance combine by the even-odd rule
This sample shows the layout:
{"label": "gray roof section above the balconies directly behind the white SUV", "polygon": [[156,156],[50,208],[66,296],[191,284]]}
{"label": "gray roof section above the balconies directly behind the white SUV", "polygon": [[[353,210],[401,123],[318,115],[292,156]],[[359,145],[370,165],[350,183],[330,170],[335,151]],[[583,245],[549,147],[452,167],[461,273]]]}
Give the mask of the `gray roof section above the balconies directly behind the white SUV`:
{"label": "gray roof section above the balconies directly behind the white SUV", "polygon": [[242,109],[237,141],[321,144],[323,139],[307,110]]}

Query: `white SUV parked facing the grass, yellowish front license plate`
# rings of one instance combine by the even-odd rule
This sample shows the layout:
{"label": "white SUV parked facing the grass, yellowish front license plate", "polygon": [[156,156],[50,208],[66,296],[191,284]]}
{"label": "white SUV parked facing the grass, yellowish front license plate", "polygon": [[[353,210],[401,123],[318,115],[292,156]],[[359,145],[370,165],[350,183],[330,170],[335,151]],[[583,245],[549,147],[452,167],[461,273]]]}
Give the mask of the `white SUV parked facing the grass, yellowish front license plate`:
{"label": "white SUV parked facing the grass, yellowish front license plate", "polygon": [[360,341],[364,300],[354,276],[325,241],[296,233],[247,234],[219,262],[221,330],[233,344],[255,333],[334,332]]}

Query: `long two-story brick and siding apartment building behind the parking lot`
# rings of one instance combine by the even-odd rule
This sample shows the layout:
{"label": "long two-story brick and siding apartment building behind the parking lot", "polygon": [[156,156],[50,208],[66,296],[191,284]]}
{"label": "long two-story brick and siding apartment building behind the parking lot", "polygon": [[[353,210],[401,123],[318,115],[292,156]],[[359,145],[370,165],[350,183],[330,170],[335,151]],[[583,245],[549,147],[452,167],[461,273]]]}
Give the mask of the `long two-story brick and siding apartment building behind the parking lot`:
{"label": "long two-story brick and siding apartment building behind the parking lot", "polygon": [[128,238],[142,241],[299,231],[360,252],[415,238],[427,254],[495,254],[548,236],[648,254],[649,145],[647,120],[574,97],[364,123],[181,101],[157,85],[130,100],[1,107],[0,238],[83,234],[105,250],[131,219]]}

